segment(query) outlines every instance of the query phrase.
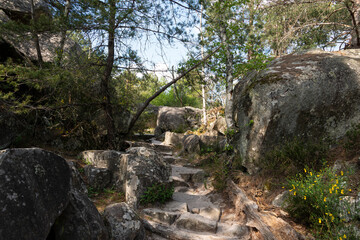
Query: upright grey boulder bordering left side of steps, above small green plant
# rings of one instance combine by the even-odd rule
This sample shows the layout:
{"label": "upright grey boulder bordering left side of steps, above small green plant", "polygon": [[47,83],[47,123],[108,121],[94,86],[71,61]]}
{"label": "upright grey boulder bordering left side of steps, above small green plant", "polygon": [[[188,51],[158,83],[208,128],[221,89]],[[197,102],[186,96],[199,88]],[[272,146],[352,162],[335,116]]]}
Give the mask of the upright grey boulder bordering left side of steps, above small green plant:
{"label": "upright grey boulder bordering left side of steps, above small green plant", "polygon": [[168,183],[171,173],[161,155],[144,147],[128,149],[124,154],[127,163],[125,194],[126,201],[134,208],[138,207],[140,197],[147,188],[158,183]]}

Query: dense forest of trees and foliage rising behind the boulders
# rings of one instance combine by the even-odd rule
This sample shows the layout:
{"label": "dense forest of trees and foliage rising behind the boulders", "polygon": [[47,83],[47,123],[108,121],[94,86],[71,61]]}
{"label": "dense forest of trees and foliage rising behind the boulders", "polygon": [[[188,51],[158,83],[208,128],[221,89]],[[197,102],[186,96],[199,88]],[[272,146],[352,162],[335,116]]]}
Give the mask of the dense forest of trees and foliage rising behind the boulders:
{"label": "dense forest of trees and foliage rising behind the boulders", "polygon": [[[224,106],[231,129],[233,87],[249,71],[298,50],[360,47],[359,0],[0,3],[1,124],[15,143],[61,136],[121,149],[149,103]],[[137,53],[150,39],[189,49],[172,81]]]}

